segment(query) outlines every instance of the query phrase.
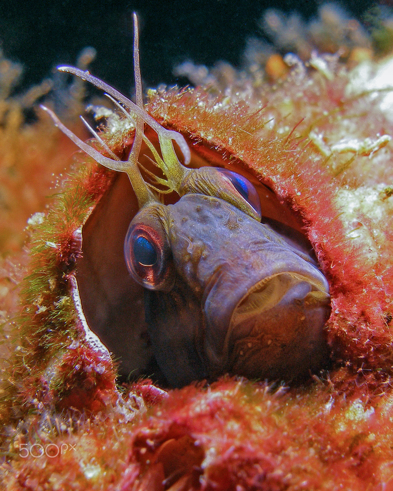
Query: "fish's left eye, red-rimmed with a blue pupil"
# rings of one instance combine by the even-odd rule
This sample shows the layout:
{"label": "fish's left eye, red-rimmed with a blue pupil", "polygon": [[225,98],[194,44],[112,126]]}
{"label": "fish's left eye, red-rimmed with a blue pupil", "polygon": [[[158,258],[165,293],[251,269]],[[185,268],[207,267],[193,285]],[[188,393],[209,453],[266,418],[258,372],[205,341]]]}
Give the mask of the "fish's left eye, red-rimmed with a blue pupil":
{"label": "fish's left eye, red-rimmed with a blue pupil", "polygon": [[128,272],[144,288],[165,291],[172,288],[171,252],[161,227],[131,222],[124,240],[124,258]]}

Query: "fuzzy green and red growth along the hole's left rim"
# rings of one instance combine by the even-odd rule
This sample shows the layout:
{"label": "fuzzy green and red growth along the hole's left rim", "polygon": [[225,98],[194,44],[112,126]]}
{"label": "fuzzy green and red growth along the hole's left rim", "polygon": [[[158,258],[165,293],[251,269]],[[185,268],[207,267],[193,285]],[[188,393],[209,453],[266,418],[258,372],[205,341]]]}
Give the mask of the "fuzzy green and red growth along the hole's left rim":
{"label": "fuzzy green and red growth along the hole's left rim", "polygon": [[[110,404],[118,398],[112,359],[108,351],[95,349],[94,338],[85,338],[86,328],[71,307],[77,301],[75,279],[67,274],[80,255],[81,224],[112,175],[84,168],[74,181],[77,192],[61,195],[31,241],[29,267],[33,273],[22,283],[19,345],[7,360],[12,382],[2,382],[17,414],[40,402],[57,408],[99,410],[104,399]],[[8,410],[1,412],[4,422],[10,417],[13,414]]]}

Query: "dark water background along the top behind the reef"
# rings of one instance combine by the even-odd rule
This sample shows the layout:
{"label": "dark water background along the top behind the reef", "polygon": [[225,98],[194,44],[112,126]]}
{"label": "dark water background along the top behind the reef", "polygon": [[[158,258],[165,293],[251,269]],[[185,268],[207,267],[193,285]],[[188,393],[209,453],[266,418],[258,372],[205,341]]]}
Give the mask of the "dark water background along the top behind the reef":
{"label": "dark water background along the top behind the reef", "polygon": [[[172,75],[175,64],[192,59],[213,65],[242,61],[246,39],[261,36],[257,20],[266,8],[315,16],[323,2],[306,0],[194,1],[31,1],[0,0],[0,39],[7,57],[24,64],[23,86],[50,75],[56,64],[74,64],[80,50],[97,50],[91,71],[128,94],[132,86],[132,12],[140,18],[144,86],[184,84]],[[340,5],[358,19],[375,2]]]}

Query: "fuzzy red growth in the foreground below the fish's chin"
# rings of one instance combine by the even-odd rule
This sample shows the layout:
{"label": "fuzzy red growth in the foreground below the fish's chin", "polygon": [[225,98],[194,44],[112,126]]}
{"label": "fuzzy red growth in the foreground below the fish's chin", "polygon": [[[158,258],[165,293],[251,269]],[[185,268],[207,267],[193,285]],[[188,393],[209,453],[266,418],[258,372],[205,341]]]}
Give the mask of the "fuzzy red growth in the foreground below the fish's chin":
{"label": "fuzzy red growth in the foreground below the fish's chin", "polygon": [[122,437],[110,452],[110,420],[85,426],[78,439],[64,432],[52,441],[76,452],[44,467],[17,459],[5,489],[29,489],[28,479],[45,489],[58,473],[67,479],[57,484],[72,482],[75,490],[391,489],[391,398],[372,406],[364,389],[345,398],[322,384],[273,393],[236,380],[186,387],[136,426],[118,427]]}

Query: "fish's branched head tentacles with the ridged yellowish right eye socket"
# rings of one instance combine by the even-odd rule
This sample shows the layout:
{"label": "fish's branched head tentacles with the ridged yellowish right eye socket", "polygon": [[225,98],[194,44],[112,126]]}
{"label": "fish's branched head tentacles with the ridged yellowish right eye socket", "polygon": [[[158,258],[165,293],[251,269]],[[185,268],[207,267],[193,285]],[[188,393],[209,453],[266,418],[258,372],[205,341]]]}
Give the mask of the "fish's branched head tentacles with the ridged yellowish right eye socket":
{"label": "fish's branched head tentacles with the ridged yellowish right eye socket", "polygon": [[[139,63],[139,31],[138,19],[134,14],[134,76],[135,76],[135,91],[137,104],[134,104],[130,99],[122,95],[116,89],[103,82],[102,80],[92,76],[88,71],[83,71],[79,68],[70,66],[58,67],[60,72],[73,74],[80,79],[90,82],[96,87],[105,91],[105,95],[111,99],[113,104],[120,109],[125,117],[135,127],[134,141],[131,151],[126,162],[120,161],[103,139],[84,121],[91,133],[95,136],[100,145],[110,155],[106,157],[100,152],[92,148],[90,145],[82,141],[70,130],[68,130],[57,118],[56,114],[48,108],[41,106],[52,117],[56,126],[63,131],[72,141],[76,143],[84,152],[96,160],[98,163],[121,172],[126,172],[130,178],[131,184],[138,198],[140,208],[147,204],[156,203],[158,201],[156,194],[166,194],[171,191],[176,191],[180,196],[187,193],[199,193],[207,196],[216,196],[233,204],[243,212],[247,213],[255,219],[260,219],[260,211],[248,202],[248,200],[239,193],[234,187],[233,182],[227,175],[221,173],[219,169],[214,167],[203,167],[201,169],[190,169],[181,164],[173,147],[173,141],[177,143],[182,152],[184,163],[188,165],[191,160],[191,152],[187,142],[180,133],[173,130],[163,128],[155,119],[153,119],[143,108],[142,98],[142,83],[140,77]],[[154,147],[151,141],[144,135],[144,123],[157,133],[160,145],[161,155]],[[139,162],[139,154],[142,141],[149,148],[153,159],[146,156],[152,164],[159,169],[164,178],[158,177],[154,170],[153,172],[143,167]],[[140,169],[144,173],[144,178],[140,173]],[[160,189],[165,188],[165,189]],[[154,193],[153,193],[154,191]]]}

